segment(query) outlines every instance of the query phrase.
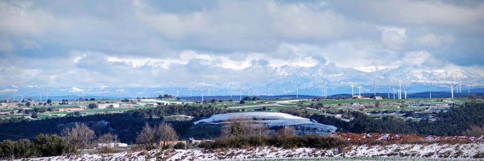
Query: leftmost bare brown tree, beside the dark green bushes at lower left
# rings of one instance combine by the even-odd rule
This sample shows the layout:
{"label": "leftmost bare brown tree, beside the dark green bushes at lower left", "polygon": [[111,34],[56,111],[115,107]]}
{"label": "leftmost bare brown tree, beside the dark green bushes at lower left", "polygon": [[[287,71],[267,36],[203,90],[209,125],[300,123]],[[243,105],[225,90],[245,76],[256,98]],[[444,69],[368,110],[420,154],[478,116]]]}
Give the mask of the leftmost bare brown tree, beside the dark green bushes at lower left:
{"label": "leftmost bare brown tree, beside the dark green bushes at lower left", "polygon": [[74,150],[88,148],[92,145],[96,135],[85,124],[76,122],[75,127],[62,130],[62,137]]}

